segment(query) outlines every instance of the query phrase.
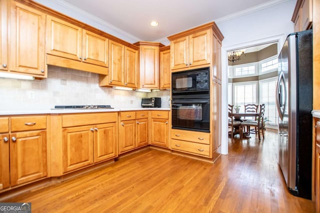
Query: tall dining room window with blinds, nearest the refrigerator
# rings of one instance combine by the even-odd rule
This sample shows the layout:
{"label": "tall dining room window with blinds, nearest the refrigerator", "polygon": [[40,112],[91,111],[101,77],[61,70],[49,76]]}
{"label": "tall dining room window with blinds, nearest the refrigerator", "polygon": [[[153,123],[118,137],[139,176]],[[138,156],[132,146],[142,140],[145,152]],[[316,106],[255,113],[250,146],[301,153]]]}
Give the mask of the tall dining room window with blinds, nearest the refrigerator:
{"label": "tall dining room window with blinds, nearest the refrigerator", "polygon": [[259,81],[259,103],[265,104],[266,124],[277,125],[278,113],[275,105],[276,77]]}

